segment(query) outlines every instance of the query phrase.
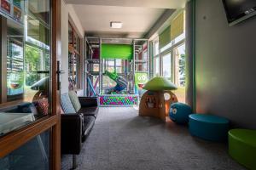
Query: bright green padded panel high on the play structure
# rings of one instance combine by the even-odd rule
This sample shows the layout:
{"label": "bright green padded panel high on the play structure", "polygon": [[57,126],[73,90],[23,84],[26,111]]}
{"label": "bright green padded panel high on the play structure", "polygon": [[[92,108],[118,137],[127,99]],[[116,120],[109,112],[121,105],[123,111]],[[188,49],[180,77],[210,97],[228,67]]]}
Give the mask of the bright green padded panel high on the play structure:
{"label": "bright green padded panel high on the play structure", "polygon": [[129,44],[102,43],[102,59],[132,59],[133,47]]}

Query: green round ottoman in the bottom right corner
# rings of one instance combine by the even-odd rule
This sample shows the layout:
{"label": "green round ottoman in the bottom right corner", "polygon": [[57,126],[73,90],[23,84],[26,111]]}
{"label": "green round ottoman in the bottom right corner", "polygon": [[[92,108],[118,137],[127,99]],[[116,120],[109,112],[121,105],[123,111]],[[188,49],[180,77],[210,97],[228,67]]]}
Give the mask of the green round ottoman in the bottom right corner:
{"label": "green round ottoman in the bottom right corner", "polygon": [[256,130],[232,129],[229,131],[230,156],[241,165],[256,169]]}

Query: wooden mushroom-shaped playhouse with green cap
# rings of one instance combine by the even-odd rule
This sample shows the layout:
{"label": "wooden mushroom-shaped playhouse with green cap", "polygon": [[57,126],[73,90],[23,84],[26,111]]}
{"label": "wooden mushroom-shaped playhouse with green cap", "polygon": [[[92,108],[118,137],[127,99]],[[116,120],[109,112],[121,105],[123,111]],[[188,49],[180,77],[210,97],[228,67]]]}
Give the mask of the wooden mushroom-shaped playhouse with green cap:
{"label": "wooden mushroom-shaped playhouse with green cap", "polygon": [[176,95],[171,92],[177,89],[176,85],[164,77],[154,77],[143,89],[148,91],[140,101],[139,116],[154,116],[166,122],[170,105],[177,102]]}

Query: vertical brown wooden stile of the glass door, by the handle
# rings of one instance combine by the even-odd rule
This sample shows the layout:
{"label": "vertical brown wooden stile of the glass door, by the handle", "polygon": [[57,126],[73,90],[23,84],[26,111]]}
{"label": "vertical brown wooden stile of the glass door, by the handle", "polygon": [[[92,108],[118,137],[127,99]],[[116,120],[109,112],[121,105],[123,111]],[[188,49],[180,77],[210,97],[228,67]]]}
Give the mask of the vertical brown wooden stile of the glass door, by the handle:
{"label": "vertical brown wooden stile of the glass door, by the handle", "polygon": [[52,114],[56,124],[51,133],[50,169],[61,169],[61,101],[57,79],[57,61],[61,60],[61,0],[52,2]]}

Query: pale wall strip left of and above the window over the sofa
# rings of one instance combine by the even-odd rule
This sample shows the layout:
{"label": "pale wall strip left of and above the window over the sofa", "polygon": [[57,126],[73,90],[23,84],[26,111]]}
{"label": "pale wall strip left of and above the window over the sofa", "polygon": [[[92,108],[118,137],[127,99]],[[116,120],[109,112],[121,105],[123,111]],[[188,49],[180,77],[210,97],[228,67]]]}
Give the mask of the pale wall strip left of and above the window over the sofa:
{"label": "pale wall strip left of and above the window over the sofa", "polygon": [[[75,26],[79,37],[84,37],[84,29],[75,13],[72,5],[67,5],[61,0],[61,70],[65,71],[61,75],[61,94],[68,92],[68,20]],[[82,94],[79,92],[79,94]]]}

